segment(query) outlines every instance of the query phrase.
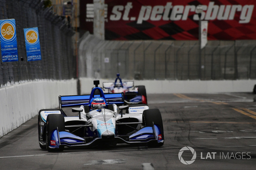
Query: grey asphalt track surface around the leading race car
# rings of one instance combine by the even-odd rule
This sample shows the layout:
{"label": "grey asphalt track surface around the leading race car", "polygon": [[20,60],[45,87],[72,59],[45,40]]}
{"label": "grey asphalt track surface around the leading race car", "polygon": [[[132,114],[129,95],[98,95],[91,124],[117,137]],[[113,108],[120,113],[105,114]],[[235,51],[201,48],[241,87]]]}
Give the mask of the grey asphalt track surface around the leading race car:
{"label": "grey asphalt track surface around the leading race car", "polygon": [[163,118],[165,139],[159,148],[118,144],[47,152],[39,147],[35,116],[0,138],[0,169],[255,169],[254,97],[148,94],[149,107],[159,108]]}

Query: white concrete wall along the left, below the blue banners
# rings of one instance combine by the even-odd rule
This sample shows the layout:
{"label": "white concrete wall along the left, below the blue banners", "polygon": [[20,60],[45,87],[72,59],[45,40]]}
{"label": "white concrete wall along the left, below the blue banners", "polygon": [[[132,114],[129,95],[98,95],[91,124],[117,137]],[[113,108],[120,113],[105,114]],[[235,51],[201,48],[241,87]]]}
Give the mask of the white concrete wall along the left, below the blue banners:
{"label": "white concrete wall along the left, below the blue banners", "polygon": [[76,95],[77,80],[33,81],[0,88],[0,137],[38,114],[59,107],[59,95]]}

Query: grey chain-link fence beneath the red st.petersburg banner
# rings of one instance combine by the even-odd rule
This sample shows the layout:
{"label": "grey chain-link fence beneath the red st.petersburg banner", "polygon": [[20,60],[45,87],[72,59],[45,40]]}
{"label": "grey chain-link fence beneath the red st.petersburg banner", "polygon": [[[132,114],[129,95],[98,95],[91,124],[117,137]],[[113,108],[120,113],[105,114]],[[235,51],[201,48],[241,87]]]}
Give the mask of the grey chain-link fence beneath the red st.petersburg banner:
{"label": "grey chain-link fence beneath the red st.petersburg banner", "polygon": [[103,41],[85,33],[78,55],[79,77],[256,79],[256,41],[208,41],[199,50],[198,41]]}

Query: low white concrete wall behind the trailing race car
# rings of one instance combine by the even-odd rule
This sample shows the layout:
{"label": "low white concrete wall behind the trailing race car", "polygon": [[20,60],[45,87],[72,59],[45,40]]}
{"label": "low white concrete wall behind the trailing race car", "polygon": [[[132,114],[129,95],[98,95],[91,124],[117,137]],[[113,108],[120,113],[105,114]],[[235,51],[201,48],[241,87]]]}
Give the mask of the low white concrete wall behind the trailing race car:
{"label": "low white concrete wall behind the trailing race car", "polygon": [[[125,81],[125,80],[123,80]],[[100,79],[102,82],[114,82],[114,79]],[[81,93],[91,92],[93,78],[80,78]],[[134,85],[145,85],[150,93],[216,93],[216,92],[252,92],[256,80],[134,80]]]}

